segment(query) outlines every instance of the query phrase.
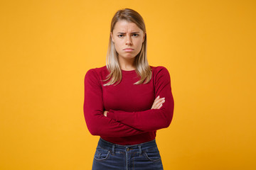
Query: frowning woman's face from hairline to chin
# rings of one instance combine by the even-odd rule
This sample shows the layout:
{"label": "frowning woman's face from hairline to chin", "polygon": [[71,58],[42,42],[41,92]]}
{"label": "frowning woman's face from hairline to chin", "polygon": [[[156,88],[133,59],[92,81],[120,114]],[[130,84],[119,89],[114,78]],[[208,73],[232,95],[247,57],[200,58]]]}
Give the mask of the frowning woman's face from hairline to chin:
{"label": "frowning woman's face from hairline to chin", "polygon": [[129,60],[134,59],[142,49],[145,33],[135,23],[122,20],[115,24],[111,38],[118,57]]}

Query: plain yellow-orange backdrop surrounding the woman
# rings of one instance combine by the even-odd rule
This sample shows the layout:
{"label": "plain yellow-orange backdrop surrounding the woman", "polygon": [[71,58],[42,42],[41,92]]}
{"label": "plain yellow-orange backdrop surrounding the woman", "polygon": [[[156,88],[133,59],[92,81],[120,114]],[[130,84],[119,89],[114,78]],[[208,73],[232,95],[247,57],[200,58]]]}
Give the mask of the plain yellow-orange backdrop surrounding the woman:
{"label": "plain yellow-orange backdrop surrounding the woman", "polygon": [[149,64],[171,74],[164,168],[256,169],[253,0],[1,1],[0,169],[91,169],[84,76],[125,7],[144,18]]}

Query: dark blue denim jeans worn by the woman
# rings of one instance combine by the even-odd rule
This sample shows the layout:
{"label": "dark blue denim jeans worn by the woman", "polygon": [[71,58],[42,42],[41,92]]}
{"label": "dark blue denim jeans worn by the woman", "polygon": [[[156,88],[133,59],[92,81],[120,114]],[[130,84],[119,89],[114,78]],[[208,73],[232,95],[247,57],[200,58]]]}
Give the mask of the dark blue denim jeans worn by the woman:
{"label": "dark blue denim jeans worn by the woman", "polygon": [[156,140],[139,145],[116,145],[100,138],[92,170],[163,170]]}

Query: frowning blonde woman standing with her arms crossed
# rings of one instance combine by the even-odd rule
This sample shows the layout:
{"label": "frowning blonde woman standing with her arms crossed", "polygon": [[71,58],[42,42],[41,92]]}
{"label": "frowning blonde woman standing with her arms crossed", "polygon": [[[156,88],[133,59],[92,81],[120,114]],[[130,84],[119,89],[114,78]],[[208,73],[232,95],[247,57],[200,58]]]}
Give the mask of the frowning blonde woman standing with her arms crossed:
{"label": "frowning blonde woman standing with her arms crossed", "polygon": [[163,169],[156,130],[169,127],[173,112],[168,70],[146,59],[142,16],[130,8],[117,11],[106,66],[85,74],[85,121],[100,136],[92,169]]}

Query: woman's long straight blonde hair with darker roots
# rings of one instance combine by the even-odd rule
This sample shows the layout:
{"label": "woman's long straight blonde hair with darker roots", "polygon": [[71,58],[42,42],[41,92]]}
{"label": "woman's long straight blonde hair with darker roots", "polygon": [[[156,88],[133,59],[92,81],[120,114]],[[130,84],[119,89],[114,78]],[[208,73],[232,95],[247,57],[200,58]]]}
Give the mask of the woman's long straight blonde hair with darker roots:
{"label": "woman's long straight blonde hair with darker roots", "polygon": [[[134,11],[130,8],[124,8],[114,14],[110,26],[111,33],[113,33],[115,24],[121,20],[135,23],[145,33],[144,42],[142,42],[142,50],[135,57],[134,60],[136,67],[135,71],[137,72],[137,75],[141,77],[141,79],[139,79],[139,81],[134,84],[142,84],[145,80],[146,81],[144,82],[144,84],[147,84],[152,77],[152,72],[146,58],[146,27],[144,20],[142,16],[137,13],[137,11]],[[115,50],[114,42],[112,42],[111,35],[107,49],[106,66],[107,69],[110,71],[110,74],[107,75],[107,79],[102,81],[107,81],[109,79],[110,81],[107,82],[107,84],[103,84],[103,86],[109,86],[116,82],[117,84],[119,84],[119,82],[122,80],[122,70],[119,66],[118,53]]]}

